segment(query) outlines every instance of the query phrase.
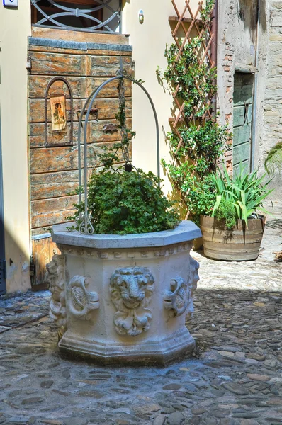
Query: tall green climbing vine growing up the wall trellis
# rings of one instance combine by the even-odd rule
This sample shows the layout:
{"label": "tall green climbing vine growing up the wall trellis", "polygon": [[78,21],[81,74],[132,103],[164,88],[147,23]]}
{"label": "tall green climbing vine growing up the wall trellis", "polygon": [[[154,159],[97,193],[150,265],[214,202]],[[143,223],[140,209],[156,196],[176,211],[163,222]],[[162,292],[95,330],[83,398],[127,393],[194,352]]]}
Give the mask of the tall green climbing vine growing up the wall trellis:
{"label": "tall green climbing vine growing up the wall trellis", "polygon": [[214,0],[207,0],[201,8],[201,36],[188,38],[185,45],[180,39],[167,46],[167,68],[163,72],[157,69],[159,83],[174,93],[182,118],[167,133],[171,162],[162,160],[162,166],[186,217],[191,215],[195,221],[201,213],[211,212],[215,188],[209,175],[215,171],[230,138],[227,126],[216,122],[210,106],[217,92],[216,67],[205,59],[203,46],[207,43],[213,7]]}

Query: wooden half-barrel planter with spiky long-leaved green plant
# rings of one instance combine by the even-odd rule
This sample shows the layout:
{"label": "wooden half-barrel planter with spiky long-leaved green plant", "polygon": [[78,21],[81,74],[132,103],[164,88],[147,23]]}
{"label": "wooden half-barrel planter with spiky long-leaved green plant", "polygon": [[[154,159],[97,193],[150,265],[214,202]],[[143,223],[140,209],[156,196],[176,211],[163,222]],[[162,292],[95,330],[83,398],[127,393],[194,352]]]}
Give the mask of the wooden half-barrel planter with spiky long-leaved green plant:
{"label": "wooden half-barrel planter with spiky long-leaved green plant", "polygon": [[264,181],[257,171],[247,173],[241,166],[232,179],[227,169],[211,176],[214,196],[211,213],[201,215],[204,253],[211,259],[254,260],[264,233],[263,202],[272,192],[271,180]]}

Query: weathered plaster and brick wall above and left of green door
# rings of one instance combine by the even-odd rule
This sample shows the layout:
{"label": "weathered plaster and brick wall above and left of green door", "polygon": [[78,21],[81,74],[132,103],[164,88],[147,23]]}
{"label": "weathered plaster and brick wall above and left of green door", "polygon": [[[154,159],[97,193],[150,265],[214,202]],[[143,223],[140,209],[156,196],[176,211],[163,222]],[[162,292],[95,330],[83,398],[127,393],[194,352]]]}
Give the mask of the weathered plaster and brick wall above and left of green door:
{"label": "weathered plaster and brick wall above and left of green door", "polygon": [[[234,74],[254,72],[257,2],[218,0],[218,111],[220,123],[233,132]],[[232,140],[225,154],[232,171]]]}

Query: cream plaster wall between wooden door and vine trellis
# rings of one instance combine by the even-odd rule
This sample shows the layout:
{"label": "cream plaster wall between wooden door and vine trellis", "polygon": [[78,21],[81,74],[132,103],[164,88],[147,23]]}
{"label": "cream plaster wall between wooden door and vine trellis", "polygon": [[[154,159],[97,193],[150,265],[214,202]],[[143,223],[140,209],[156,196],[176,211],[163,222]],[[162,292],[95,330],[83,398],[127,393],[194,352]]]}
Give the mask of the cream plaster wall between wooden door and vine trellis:
{"label": "cream plaster wall between wooden door and vine trellis", "polygon": [[[185,0],[176,0],[179,12],[182,13]],[[191,1],[195,13],[198,1]],[[144,23],[138,21],[138,12],[144,12]],[[169,117],[172,108],[172,96],[159,85],[156,69],[164,69],[167,60],[164,57],[166,43],[171,45],[174,39],[171,35],[169,16],[176,16],[171,0],[125,0],[123,4],[123,33],[130,35],[129,44],[133,46],[133,60],[136,62],[135,78],[145,81],[144,86],[149,91],[159,118],[160,157],[170,160],[169,148],[164,132],[170,131]],[[186,12],[187,17],[190,15]],[[200,16],[198,16],[200,17]],[[174,24],[175,28],[175,24]],[[136,85],[132,92],[132,130],[137,136],[132,143],[133,164],[145,171],[157,174],[156,130],[152,108],[145,94]],[[161,167],[161,176],[164,173]],[[167,179],[164,191],[170,190]]]}

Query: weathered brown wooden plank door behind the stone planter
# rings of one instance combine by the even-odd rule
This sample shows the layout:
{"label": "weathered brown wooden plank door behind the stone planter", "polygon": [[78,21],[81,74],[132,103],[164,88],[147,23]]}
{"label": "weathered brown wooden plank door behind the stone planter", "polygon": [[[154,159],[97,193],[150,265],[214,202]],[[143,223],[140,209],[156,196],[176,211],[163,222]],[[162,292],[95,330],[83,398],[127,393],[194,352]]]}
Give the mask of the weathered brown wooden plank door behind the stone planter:
{"label": "weathered brown wooden plank door behind the stone planter", "polygon": [[[58,33],[56,32],[58,31]],[[132,69],[132,47],[125,35],[79,33],[71,30],[33,28],[29,38],[32,67],[28,76],[29,160],[30,160],[30,234],[32,239],[31,281],[33,290],[45,285],[45,264],[59,254],[50,237],[52,225],[67,222],[74,214],[74,194],[78,186],[77,133],[79,113],[86,98],[102,82],[114,77],[120,57],[127,72]],[[40,37],[41,34],[41,37]],[[57,34],[58,39],[55,38]],[[64,38],[64,42],[60,38]],[[101,42],[103,41],[103,42]],[[113,43],[113,44],[112,44]],[[72,99],[64,81],[57,80],[45,95],[47,84],[63,77],[72,89]],[[50,96],[66,96],[67,126],[52,132]],[[131,125],[131,81],[125,81],[128,127]],[[73,108],[71,108],[71,103]],[[89,168],[97,165],[103,147],[120,141],[115,115],[118,112],[118,84],[113,81],[99,94],[87,132]],[[47,113],[47,140],[45,114]],[[73,137],[71,137],[73,123]],[[114,125],[109,132],[107,126]]]}

